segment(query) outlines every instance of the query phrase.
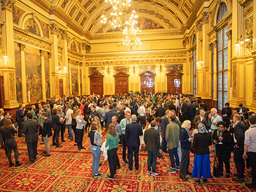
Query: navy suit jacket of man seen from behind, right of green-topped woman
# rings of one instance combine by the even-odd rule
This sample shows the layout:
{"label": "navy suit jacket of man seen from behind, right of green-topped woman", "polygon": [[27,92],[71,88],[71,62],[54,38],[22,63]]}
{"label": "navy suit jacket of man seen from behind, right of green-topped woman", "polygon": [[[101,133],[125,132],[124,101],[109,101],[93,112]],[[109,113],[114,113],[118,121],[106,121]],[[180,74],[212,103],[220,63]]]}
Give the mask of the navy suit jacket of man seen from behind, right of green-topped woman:
{"label": "navy suit jacket of man seen from behind, right of green-topped woman", "polygon": [[140,136],[142,136],[142,127],[136,122],[131,122],[125,127],[125,139],[126,143],[132,147],[140,146]]}

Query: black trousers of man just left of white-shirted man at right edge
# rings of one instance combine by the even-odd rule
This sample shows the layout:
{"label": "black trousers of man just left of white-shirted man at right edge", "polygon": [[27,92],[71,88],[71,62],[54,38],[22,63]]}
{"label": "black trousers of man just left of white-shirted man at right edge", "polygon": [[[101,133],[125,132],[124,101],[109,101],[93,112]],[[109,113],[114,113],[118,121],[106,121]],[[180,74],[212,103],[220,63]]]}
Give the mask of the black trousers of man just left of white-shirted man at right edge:
{"label": "black trousers of man just left of white-shirted man at right edge", "polygon": [[244,168],[245,168],[243,154],[244,154],[243,146],[239,148],[237,147],[234,148],[234,162],[236,164],[237,177],[241,179],[244,178]]}

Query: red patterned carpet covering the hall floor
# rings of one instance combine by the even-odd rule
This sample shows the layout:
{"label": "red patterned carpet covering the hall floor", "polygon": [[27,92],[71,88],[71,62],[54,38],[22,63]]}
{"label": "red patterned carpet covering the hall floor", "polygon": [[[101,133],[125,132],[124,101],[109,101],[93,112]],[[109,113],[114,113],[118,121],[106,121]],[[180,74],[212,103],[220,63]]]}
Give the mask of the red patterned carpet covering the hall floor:
{"label": "red patterned carpet covering the hall floor", "polygon": [[[66,131],[67,132],[67,131]],[[157,172],[160,175],[147,175],[147,152],[140,152],[140,169],[130,171],[128,165],[122,162],[122,150],[118,150],[121,169],[117,171],[115,180],[108,180],[108,161],[100,160],[100,172],[103,177],[93,179],[92,177],[92,154],[90,153],[90,141],[84,136],[85,150],[77,150],[73,142],[67,140],[62,148],[51,147],[51,156],[42,156],[44,145],[38,144],[38,158],[35,164],[26,165],[26,143],[24,138],[17,138],[19,161],[22,166],[10,168],[8,160],[4,154],[4,149],[0,150],[0,191],[111,191],[111,192],[136,192],[136,191],[252,191],[244,184],[239,184],[232,179],[225,177],[209,179],[207,184],[194,184],[194,179],[189,178],[185,182],[179,178],[179,172],[167,173],[170,166],[170,159],[165,155],[165,159],[158,159]],[[231,177],[236,173],[234,161],[231,159]],[[14,159],[13,159],[14,161]],[[214,158],[211,156],[211,163]],[[193,154],[191,154],[192,172]],[[212,165],[211,164],[211,165]],[[134,168],[134,167],[133,167]],[[246,182],[251,178],[246,172]]]}

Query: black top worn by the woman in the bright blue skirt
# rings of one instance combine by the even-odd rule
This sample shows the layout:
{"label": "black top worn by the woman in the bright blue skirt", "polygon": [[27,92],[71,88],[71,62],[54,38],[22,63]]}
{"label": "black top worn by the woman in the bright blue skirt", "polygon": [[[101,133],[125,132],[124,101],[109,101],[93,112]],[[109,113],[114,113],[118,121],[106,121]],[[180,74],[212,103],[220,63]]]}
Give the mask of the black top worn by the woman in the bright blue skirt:
{"label": "black top worn by the woman in the bright blue skirt", "polygon": [[212,145],[211,135],[208,132],[196,133],[193,140],[194,152],[197,155],[210,154],[209,146]]}

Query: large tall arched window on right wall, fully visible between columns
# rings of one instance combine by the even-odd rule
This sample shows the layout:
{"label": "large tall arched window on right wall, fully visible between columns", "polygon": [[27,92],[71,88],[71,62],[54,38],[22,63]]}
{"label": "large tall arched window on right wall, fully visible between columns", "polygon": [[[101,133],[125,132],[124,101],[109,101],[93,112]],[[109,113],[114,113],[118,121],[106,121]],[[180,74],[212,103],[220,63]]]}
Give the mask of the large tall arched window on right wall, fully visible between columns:
{"label": "large tall arched window on right wall, fully visible between columns", "polygon": [[[218,10],[217,22],[227,13],[227,6],[221,3]],[[228,99],[228,26],[223,25],[217,31],[217,82],[218,82],[218,109],[222,109]]]}

